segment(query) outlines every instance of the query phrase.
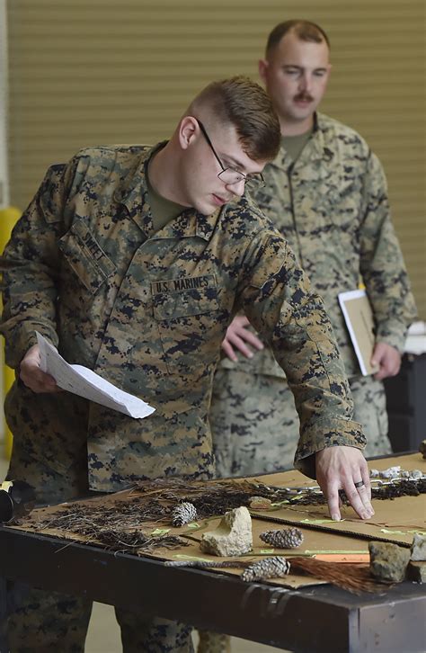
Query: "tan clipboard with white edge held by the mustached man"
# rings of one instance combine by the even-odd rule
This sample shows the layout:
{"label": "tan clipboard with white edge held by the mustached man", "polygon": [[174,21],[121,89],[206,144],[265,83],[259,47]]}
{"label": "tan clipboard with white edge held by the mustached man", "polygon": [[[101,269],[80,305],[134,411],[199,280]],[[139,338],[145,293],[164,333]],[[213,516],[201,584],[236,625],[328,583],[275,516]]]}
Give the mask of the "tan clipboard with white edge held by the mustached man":
{"label": "tan clipboard with white edge held by the mustached man", "polygon": [[375,325],[367,293],[364,290],[340,292],[338,298],[362,376],[375,374],[378,365],[370,362],[376,343]]}

